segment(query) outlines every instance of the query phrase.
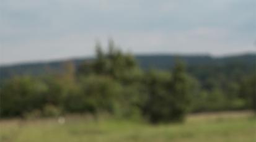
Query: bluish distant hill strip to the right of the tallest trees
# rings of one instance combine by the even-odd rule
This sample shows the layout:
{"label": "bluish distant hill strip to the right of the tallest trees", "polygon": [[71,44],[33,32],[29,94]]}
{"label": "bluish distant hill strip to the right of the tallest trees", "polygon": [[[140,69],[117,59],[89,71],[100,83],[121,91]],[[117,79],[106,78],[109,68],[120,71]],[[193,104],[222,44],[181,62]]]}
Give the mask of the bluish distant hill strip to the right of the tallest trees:
{"label": "bluish distant hill strip to the right of the tallest trees", "polygon": [[143,69],[155,67],[156,69],[170,69],[175,59],[182,59],[188,66],[194,65],[226,65],[226,64],[248,64],[255,65],[256,54],[243,54],[238,56],[211,57],[208,55],[141,55],[136,56]]}

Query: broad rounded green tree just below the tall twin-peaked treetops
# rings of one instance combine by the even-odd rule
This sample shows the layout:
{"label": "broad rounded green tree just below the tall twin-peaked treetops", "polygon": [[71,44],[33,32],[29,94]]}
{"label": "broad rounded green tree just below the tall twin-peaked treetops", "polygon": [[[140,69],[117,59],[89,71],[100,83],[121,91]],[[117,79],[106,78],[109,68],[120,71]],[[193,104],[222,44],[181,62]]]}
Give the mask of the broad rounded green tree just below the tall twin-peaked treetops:
{"label": "broad rounded green tree just below the tall twin-peaked treetops", "polygon": [[121,86],[107,76],[90,75],[80,79],[80,92],[71,96],[67,104],[71,111],[92,114],[109,112],[115,114],[120,99]]}

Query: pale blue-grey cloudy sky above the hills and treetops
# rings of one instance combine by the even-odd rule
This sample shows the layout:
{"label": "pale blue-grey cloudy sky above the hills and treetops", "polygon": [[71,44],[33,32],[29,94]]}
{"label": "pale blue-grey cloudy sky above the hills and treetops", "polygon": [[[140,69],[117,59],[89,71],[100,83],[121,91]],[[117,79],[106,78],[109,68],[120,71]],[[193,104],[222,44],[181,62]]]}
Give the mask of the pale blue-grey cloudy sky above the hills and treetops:
{"label": "pale blue-grey cloudy sky above the hills and treetops", "polygon": [[0,64],[135,54],[256,52],[255,0],[0,0]]}

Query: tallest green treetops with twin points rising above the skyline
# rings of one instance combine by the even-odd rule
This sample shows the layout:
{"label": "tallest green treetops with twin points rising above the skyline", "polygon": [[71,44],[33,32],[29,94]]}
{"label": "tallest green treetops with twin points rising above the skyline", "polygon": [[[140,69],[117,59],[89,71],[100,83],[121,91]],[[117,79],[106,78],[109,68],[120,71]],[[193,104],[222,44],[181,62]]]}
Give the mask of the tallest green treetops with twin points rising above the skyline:
{"label": "tallest green treetops with twin points rising above the skyline", "polygon": [[99,43],[96,43],[96,59],[90,64],[83,64],[79,67],[79,73],[108,75],[123,83],[137,80],[142,76],[135,58],[131,54],[123,54],[113,40],[108,43],[108,51],[103,52]]}

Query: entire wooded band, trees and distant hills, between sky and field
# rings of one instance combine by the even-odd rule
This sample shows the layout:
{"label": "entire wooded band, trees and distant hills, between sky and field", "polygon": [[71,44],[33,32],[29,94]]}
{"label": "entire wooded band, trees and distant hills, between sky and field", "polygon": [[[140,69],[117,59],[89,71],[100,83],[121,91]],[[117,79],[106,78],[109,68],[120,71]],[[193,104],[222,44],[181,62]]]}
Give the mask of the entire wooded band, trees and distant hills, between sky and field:
{"label": "entire wooded band, trees and distant hills, between sky and field", "polygon": [[96,46],[95,59],[1,67],[1,117],[107,113],[158,123],[256,110],[255,57],[135,57],[110,44]]}

